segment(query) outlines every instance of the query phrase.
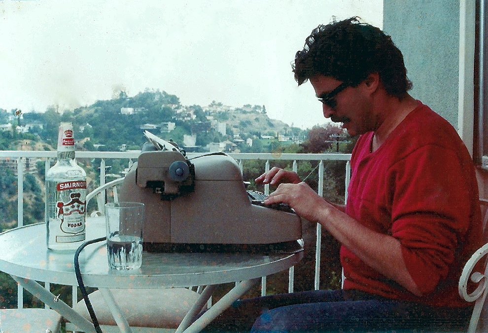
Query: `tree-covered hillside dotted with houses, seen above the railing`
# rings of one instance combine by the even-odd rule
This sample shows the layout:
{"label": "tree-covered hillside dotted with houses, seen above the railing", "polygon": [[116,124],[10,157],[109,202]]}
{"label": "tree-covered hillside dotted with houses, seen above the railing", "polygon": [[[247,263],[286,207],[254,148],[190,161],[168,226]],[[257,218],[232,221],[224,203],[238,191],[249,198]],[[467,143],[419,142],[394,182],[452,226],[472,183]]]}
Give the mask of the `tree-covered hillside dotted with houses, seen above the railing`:
{"label": "tree-covered hillside dotted with houses, seen above the railing", "polygon": [[249,138],[260,139],[261,135],[284,135],[290,142],[293,137],[306,136],[306,131],[270,119],[264,105],[230,107],[215,101],[208,106],[181,105],[176,96],[159,90],[146,90],[134,97],[121,92],[119,98],[98,100],[74,110],[59,112],[51,108],[44,113],[25,113],[17,121],[53,146],[59,122],[70,121],[75,137],[90,151],[140,148],[146,129],[178,143],[183,143],[185,136],[192,137],[192,146],[201,149],[211,142],[241,143]]}

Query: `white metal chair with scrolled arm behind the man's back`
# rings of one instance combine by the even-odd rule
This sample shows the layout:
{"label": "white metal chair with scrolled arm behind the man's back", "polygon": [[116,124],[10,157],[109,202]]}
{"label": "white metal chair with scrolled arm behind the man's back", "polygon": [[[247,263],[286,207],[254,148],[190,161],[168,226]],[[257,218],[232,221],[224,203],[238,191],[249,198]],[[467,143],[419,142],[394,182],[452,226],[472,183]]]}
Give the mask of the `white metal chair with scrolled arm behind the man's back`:
{"label": "white metal chair with scrolled arm behind the man's back", "polygon": [[[484,239],[488,241],[488,200],[480,199],[480,205],[482,208],[483,218],[483,233]],[[479,248],[468,260],[464,266],[461,277],[459,278],[459,295],[467,301],[475,302],[471,320],[469,322],[468,332],[488,332],[488,258],[485,256],[488,254],[488,243]],[[480,263],[483,263],[483,273],[479,271],[473,272],[473,269],[479,268]],[[477,283],[476,290],[468,294],[468,282],[471,280]]]}

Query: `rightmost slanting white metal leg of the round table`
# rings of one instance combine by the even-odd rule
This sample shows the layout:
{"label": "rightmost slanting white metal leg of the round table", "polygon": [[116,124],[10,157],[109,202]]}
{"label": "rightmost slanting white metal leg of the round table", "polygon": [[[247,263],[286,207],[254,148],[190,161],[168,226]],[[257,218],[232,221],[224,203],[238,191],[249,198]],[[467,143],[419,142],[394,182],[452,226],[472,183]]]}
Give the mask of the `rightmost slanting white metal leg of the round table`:
{"label": "rightmost slanting white metal leg of the round table", "polygon": [[180,330],[180,328],[178,327],[176,333],[198,333],[202,331],[207,325],[209,325],[209,323],[213,319],[217,318],[219,314],[229,308],[233,302],[239,300],[239,298],[243,296],[249,289],[251,289],[259,280],[261,280],[260,277],[251,280],[241,281],[227,294],[225,294],[220,300],[213,304],[212,307],[210,307],[204,314],[202,314],[202,316],[200,316],[200,318],[198,318],[190,326],[188,326],[188,328],[182,328],[182,330]]}

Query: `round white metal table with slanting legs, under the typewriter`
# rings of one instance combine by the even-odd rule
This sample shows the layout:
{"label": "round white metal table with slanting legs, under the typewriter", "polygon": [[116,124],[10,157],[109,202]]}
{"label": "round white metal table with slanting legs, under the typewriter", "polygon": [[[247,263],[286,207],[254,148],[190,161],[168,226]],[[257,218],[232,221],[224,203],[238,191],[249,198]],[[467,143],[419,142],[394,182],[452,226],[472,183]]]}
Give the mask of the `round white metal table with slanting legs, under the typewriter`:
{"label": "round white metal table with slanting legs, under the typewriter", "polygon": [[[105,235],[105,218],[87,219],[87,240]],[[16,228],[0,234],[0,270],[12,276],[24,289],[56,310],[81,331],[95,333],[93,324],[43,288],[36,281],[76,286],[74,251],[51,251],[46,247],[45,223]],[[296,265],[303,252],[292,254],[253,253],[150,253],[143,252],[136,270],[108,268],[105,242],[90,244],[79,263],[86,287],[99,288],[121,332],[131,332],[109,288],[180,288],[207,286],[183,319],[177,332],[199,332],[211,320],[247,292],[262,276]],[[197,314],[219,284],[238,282],[203,316]]]}

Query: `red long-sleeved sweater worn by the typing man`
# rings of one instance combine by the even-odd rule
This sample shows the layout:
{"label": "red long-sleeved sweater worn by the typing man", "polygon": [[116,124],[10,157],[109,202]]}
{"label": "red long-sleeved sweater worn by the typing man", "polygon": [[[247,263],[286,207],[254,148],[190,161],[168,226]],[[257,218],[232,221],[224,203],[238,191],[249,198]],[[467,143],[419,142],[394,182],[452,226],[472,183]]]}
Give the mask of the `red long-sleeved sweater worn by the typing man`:
{"label": "red long-sleeved sweater worn by the typing man", "polygon": [[468,303],[457,292],[462,268],[482,245],[478,184],[472,159],[453,127],[419,102],[378,150],[373,133],[351,157],[346,213],[401,242],[417,297],[363,263],[345,246],[344,289],[434,306]]}

